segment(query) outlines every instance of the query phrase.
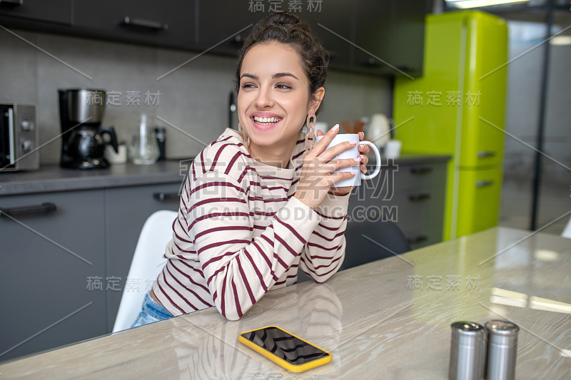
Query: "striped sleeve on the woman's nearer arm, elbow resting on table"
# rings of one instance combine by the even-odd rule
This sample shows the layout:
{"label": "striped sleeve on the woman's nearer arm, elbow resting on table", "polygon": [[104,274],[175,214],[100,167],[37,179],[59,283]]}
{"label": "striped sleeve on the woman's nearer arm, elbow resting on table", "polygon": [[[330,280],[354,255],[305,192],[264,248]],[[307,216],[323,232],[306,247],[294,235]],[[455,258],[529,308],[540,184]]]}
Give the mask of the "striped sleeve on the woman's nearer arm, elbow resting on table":
{"label": "striped sleeve on the woman's nearer arm, elbow resting on table", "polygon": [[321,218],[292,197],[261,235],[253,237],[256,209],[247,187],[226,173],[207,171],[189,190],[188,235],[214,304],[236,320],[298,260]]}

